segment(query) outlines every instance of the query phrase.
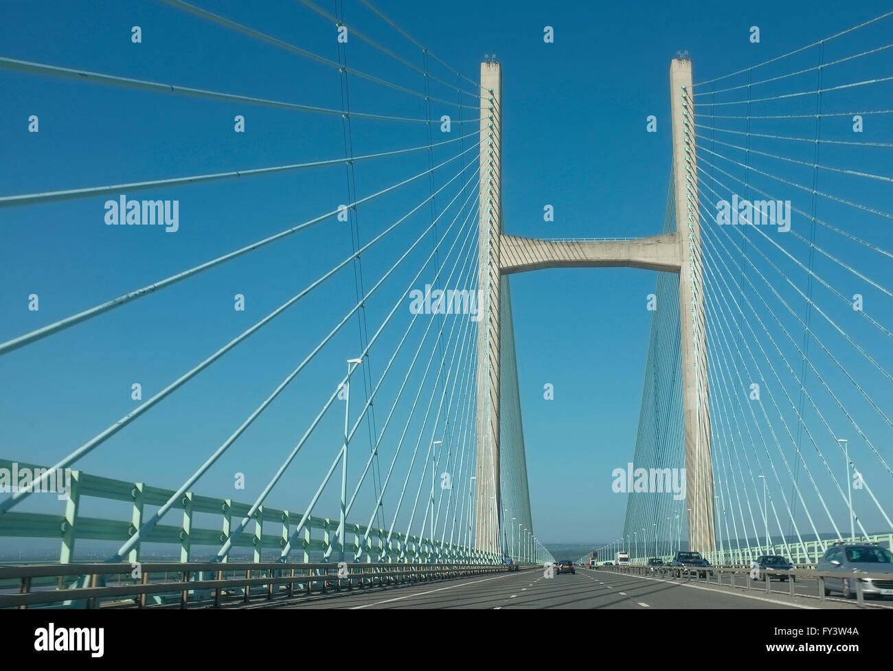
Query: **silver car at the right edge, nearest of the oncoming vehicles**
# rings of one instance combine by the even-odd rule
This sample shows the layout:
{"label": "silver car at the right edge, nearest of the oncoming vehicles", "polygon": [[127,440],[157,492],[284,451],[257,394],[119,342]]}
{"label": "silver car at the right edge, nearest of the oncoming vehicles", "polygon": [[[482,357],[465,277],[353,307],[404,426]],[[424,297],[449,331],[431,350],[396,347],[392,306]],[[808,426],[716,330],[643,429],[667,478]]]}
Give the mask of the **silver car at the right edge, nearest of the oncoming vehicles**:
{"label": "silver car at the right edge, nearest of the oncoming vehicles", "polygon": [[[855,580],[862,583],[865,595],[893,595],[893,553],[875,543],[835,543],[825,551],[815,565],[818,571],[839,573],[840,577],[825,578],[825,596],[840,592],[844,599],[855,597]],[[856,578],[856,571],[889,573],[889,580]]]}

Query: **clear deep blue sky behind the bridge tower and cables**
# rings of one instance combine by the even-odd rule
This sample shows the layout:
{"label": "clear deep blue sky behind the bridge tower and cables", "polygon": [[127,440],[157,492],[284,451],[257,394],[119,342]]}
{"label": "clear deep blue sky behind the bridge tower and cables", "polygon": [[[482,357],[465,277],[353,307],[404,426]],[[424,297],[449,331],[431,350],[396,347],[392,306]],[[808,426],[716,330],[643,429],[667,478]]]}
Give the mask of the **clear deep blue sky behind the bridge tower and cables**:
{"label": "clear deep blue sky behind the bridge tower and cables", "polygon": [[[330,21],[300,3],[196,4],[338,59]],[[324,5],[328,12],[333,8]],[[462,0],[434,6],[397,0],[380,3],[380,9],[470,79],[478,78],[484,54],[497,54],[503,66],[506,232],[601,237],[661,231],[672,159],[669,66],[677,50],[689,51],[700,82],[812,43],[889,6]],[[328,108],[342,104],[336,70],[168,4],[4,0],[3,12],[0,55],[6,57]],[[347,0],[344,12],[348,26],[355,24],[421,67],[420,50],[362,4]],[[141,44],[130,41],[133,25],[142,29]],[[759,44],[747,39],[752,25],[761,29]],[[554,27],[554,44],[544,43],[545,26]],[[843,54],[857,48],[858,42]],[[420,73],[360,40],[348,43],[346,55],[355,68],[422,89]],[[431,64],[431,72],[455,80],[455,72],[438,63]],[[349,86],[352,110],[411,118],[427,113],[419,97],[356,78]],[[14,92],[0,100],[2,195],[343,155],[338,116],[6,69],[0,69],[0,87]],[[889,107],[889,87],[884,91],[859,102]],[[431,95],[453,101],[456,92],[432,82]],[[474,104],[467,95],[463,101]],[[464,112],[476,113],[472,107]],[[432,103],[431,116],[441,113],[456,119],[463,111]],[[39,133],[27,132],[31,114],[39,117]],[[236,114],[246,117],[244,134],[233,132]],[[646,132],[651,114],[657,117],[656,133]],[[418,123],[355,120],[352,137],[355,154],[427,144],[425,127]],[[887,137],[880,141],[889,141],[889,132]],[[447,161],[455,153],[455,145],[438,147],[433,159]],[[878,171],[884,162],[880,157],[869,164]],[[886,166],[889,171],[889,162]],[[427,167],[424,153],[358,163],[357,193],[373,193]],[[438,171],[435,187],[457,170]],[[445,191],[447,199],[458,193],[453,186]],[[179,199],[176,234],[106,227],[103,203],[114,196],[0,210],[0,340],[294,226],[346,202],[346,194],[343,167],[142,192],[139,197]],[[425,179],[361,210],[363,242],[396,220],[395,212],[427,195]],[[555,206],[554,222],[543,221],[545,204]],[[367,289],[424,226],[416,222],[412,234],[383,243],[387,251],[380,257],[364,257]],[[880,237],[872,239],[889,240],[886,231],[875,232]],[[58,459],[133,409],[133,382],[143,385],[146,398],[349,253],[347,229],[326,223],[4,356],[0,455],[38,463]],[[404,277],[411,275],[388,285],[391,296]],[[622,531],[625,503],[611,492],[610,474],[630,460],[635,445],[651,321],[644,303],[654,291],[655,275],[636,269],[554,269],[511,282],[534,526],[547,542],[610,540]],[[40,296],[38,312],[27,310],[32,293]],[[232,309],[238,293],[246,294],[244,312]],[[353,273],[333,278],[300,310],[283,315],[81,460],[80,468],[178,485],[354,301]],[[370,306],[371,331],[386,312],[384,302]],[[339,334],[271,407],[269,418],[249,429],[196,491],[252,501],[343,376],[356,337],[354,326]],[[386,355],[377,356],[380,370]],[[554,401],[543,399],[546,383],[555,386]],[[889,392],[882,384],[875,383],[871,392]],[[338,447],[342,421],[338,413],[325,419],[319,440],[308,443],[299,465],[273,493],[272,505],[304,508]],[[874,428],[889,437],[882,433],[887,427]],[[246,474],[249,485],[233,494],[237,471]],[[321,501],[323,514],[337,515],[336,489]]]}

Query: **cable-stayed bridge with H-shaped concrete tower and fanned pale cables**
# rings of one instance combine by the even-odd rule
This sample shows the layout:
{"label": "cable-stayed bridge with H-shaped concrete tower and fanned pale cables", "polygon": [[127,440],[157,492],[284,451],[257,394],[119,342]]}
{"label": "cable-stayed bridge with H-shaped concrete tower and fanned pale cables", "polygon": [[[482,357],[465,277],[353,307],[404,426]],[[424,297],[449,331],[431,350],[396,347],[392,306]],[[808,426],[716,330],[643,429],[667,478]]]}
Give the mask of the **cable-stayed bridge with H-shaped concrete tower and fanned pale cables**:
{"label": "cable-stayed bridge with H-shaped concrete tower and fanned pale cables", "polygon": [[[184,605],[234,572],[244,580],[226,589],[249,601],[253,586],[292,597],[478,576],[506,558],[551,568],[530,506],[509,278],[551,268],[656,272],[637,441],[630,468],[605,477],[627,493],[623,537],[599,559],[689,549],[716,565],[764,554],[813,564],[835,541],[890,547],[893,12],[700,82],[679,54],[669,179],[654,185],[667,189],[663,227],[555,239],[513,236],[504,221],[513,140],[495,59],[457,71],[365,0],[356,18],[340,3],[298,3],[330,29],[318,44],[165,4],[288,56],[305,68],[306,97],[77,62],[0,66],[81,96],[207,104],[225,117],[221,146],[273,118],[339,144],[308,156],[300,139],[268,137],[273,148],[254,155],[221,149],[242,157],[224,162],[190,159],[183,141],[154,176],[73,174],[0,196],[10,228],[64,213],[102,222],[60,238],[63,268],[9,278],[0,366],[16,383],[4,396],[33,409],[49,402],[34,385],[54,376],[118,385],[65,382],[70,410],[7,434],[0,536],[38,539],[58,562],[4,568],[30,594],[0,595],[4,605],[46,603],[49,584],[66,588],[50,603],[96,605],[111,596],[73,590],[125,594],[140,581],[135,601],[161,602],[163,585],[145,576],[166,578],[178,561],[191,567],[183,582],[202,583],[175,590]],[[308,82],[322,73],[338,79],[340,106],[314,102]],[[277,142],[301,159],[264,163]],[[289,216],[246,225],[247,197],[267,213],[286,199]],[[199,225],[213,201],[231,203],[229,226]],[[29,253],[16,244],[10,253]],[[97,268],[96,250],[120,257],[117,273]],[[130,264],[149,279],[105,291]],[[54,281],[36,284],[40,272]],[[78,278],[93,272],[96,284]],[[137,349],[154,352],[149,365],[132,365]],[[70,443],[39,445],[60,428]],[[217,585],[216,603],[227,596]]]}

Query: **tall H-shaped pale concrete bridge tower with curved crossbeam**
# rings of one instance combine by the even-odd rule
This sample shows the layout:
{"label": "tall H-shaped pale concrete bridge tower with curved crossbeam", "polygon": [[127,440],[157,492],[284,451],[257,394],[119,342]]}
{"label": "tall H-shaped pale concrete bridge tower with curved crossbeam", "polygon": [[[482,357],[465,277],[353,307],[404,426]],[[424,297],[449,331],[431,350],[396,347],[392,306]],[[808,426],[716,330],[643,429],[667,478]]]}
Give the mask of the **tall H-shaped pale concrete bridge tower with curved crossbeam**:
{"label": "tall H-shaped pale concrete bridge tower with curved crossbeam", "polygon": [[[682,409],[685,441],[689,547],[713,551],[714,490],[710,458],[704,276],[697,193],[691,62],[675,59],[672,93],[673,180],[676,232],[636,240],[547,241],[507,236],[502,215],[502,72],[497,62],[480,65],[480,245],[478,286],[483,316],[478,327],[476,543],[500,547],[499,401],[500,284],[504,276],[543,268],[630,267],[679,274]],[[503,315],[511,319],[511,315]],[[511,329],[509,329],[511,332]]]}

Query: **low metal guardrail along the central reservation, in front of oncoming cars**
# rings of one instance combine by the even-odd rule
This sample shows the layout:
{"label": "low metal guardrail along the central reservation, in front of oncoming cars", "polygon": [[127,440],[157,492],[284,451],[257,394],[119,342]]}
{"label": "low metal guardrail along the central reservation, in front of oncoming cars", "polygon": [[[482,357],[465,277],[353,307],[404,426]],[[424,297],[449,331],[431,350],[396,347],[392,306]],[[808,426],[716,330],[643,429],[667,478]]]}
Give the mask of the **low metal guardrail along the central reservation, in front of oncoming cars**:
{"label": "low metal guardrail along the central reservation, in front of oncoming cars", "polygon": [[[855,571],[853,573],[841,573],[840,571],[817,571],[814,568],[808,568],[809,565],[800,565],[801,567],[797,567],[793,570],[776,570],[770,568],[761,568],[759,569],[760,578],[754,579],[751,577],[752,572],[755,570],[752,567],[747,567],[743,565],[737,566],[710,566],[710,567],[672,567],[672,566],[663,566],[663,567],[648,567],[641,565],[625,565],[625,566],[599,566],[596,568],[600,568],[603,570],[613,571],[614,573],[623,573],[623,574],[631,574],[638,576],[662,576],[662,577],[672,577],[672,578],[687,578],[691,579],[694,576],[696,581],[700,581],[701,576],[704,576],[704,582],[710,583],[712,577],[716,577],[716,584],[722,585],[722,576],[729,575],[730,576],[730,586],[731,587],[741,587],[743,589],[754,589],[754,584],[763,583],[765,592],[771,592],[770,584],[772,583],[772,578],[787,578],[788,579],[788,592],[789,596],[801,596],[809,599],[819,599],[820,601],[826,601],[828,596],[825,594],[825,579],[830,578],[833,580],[840,579],[852,579],[855,583],[855,600],[857,605],[864,606],[864,592],[863,592],[863,583],[862,580],[882,580],[889,581],[893,583],[893,573],[867,573],[863,571]],[[740,584],[736,584],[735,576],[743,576],[743,581]],[[806,579],[815,579],[818,584],[818,594],[813,596],[811,594],[802,594],[797,593],[794,590],[797,578],[806,578]]]}

